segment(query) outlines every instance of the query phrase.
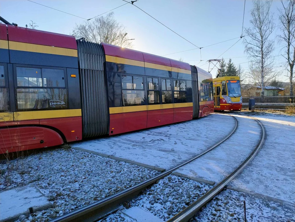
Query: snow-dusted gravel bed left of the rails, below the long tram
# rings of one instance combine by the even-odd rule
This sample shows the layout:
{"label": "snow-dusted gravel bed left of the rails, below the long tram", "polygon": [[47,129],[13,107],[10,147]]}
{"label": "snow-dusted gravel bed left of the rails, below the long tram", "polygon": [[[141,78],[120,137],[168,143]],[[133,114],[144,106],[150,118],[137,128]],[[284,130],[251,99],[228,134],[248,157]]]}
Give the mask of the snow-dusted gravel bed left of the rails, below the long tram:
{"label": "snow-dusted gravel bed left of the rails, below the long tram", "polygon": [[2,161],[0,170],[0,191],[34,184],[53,204],[41,212],[38,221],[91,204],[158,173],[72,149],[42,152],[9,164]]}

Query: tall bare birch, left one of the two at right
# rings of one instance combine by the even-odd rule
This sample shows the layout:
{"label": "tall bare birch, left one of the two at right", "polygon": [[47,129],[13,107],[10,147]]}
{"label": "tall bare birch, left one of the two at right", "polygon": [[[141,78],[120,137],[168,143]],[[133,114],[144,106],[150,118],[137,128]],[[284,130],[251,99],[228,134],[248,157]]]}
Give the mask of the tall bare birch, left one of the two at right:
{"label": "tall bare birch, left one of the two at right", "polygon": [[[270,35],[274,31],[272,22],[273,13],[270,12],[272,0],[253,0],[253,8],[250,11],[252,19],[251,27],[245,28],[244,39],[245,52],[250,58],[249,77],[261,87],[261,100],[264,101],[264,88],[266,79],[271,81],[277,76],[273,72],[274,59],[271,54],[274,49],[274,40]],[[259,78],[257,78],[259,74]]]}

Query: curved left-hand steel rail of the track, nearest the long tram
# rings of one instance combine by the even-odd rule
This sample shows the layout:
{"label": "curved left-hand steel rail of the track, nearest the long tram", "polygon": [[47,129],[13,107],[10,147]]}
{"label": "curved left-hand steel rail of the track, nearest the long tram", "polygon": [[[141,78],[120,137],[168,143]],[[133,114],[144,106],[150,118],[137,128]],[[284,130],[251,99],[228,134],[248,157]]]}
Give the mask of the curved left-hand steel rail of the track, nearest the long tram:
{"label": "curved left-hand steel rail of the track, nearest the long tram", "polygon": [[[231,116],[231,115],[230,115]],[[201,154],[189,159],[188,161],[181,163],[180,165],[173,167],[170,170],[164,171],[150,179],[147,179],[141,183],[138,183],[132,187],[129,187],[123,191],[119,191],[111,196],[103,198],[93,204],[89,204],[85,207],[79,208],[67,214],[64,214],[60,217],[50,220],[51,222],[68,222],[68,221],[96,221],[101,219],[102,217],[108,215],[111,212],[117,210],[117,208],[124,202],[131,200],[135,196],[137,196],[141,191],[156,183],[157,180],[163,179],[164,177],[170,175],[173,171],[177,170],[180,167],[192,162],[193,160],[201,157],[202,155],[208,153],[210,150],[213,150],[215,147],[219,146],[221,143],[226,141],[231,135],[236,131],[238,127],[238,121],[234,116],[231,116],[235,119],[235,127],[225,138],[211,146],[209,149],[205,150]]]}

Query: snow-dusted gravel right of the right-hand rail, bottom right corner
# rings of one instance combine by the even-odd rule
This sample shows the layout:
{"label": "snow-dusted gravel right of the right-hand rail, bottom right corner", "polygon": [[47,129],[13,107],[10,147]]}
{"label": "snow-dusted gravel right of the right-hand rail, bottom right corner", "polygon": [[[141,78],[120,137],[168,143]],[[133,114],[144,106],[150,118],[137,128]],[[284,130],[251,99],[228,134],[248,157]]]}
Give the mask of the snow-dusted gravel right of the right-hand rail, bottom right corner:
{"label": "snow-dusted gravel right of the right-hand rail, bottom right corner", "polygon": [[243,222],[244,200],[247,221],[295,221],[295,207],[231,190],[224,190],[214,197],[192,221]]}

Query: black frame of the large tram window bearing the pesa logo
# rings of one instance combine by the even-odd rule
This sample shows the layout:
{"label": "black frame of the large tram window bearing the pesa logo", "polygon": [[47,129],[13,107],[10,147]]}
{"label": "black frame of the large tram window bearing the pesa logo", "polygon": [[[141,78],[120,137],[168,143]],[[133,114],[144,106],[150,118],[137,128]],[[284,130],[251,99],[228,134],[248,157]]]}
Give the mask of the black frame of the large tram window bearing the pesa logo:
{"label": "black frame of the large tram window bearing the pesa logo", "polygon": [[[23,67],[23,68],[39,68],[41,70],[41,79],[42,79],[42,86],[18,86],[17,85],[17,72],[16,68],[17,67]],[[42,74],[42,69],[60,69],[64,71],[64,87],[48,87],[48,86],[43,86],[44,85],[44,80],[43,80],[43,74]],[[55,66],[40,66],[40,65],[25,65],[25,64],[13,64],[13,79],[14,79],[14,93],[15,93],[15,109],[18,112],[25,112],[25,111],[39,111],[39,110],[62,110],[62,109],[69,109],[69,89],[68,89],[68,75],[67,75],[67,68],[65,67],[55,67]],[[18,109],[18,104],[17,104],[17,89],[18,88],[24,88],[24,89],[66,89],[67,93],[67,108],[44,108],[44,109]]]}

